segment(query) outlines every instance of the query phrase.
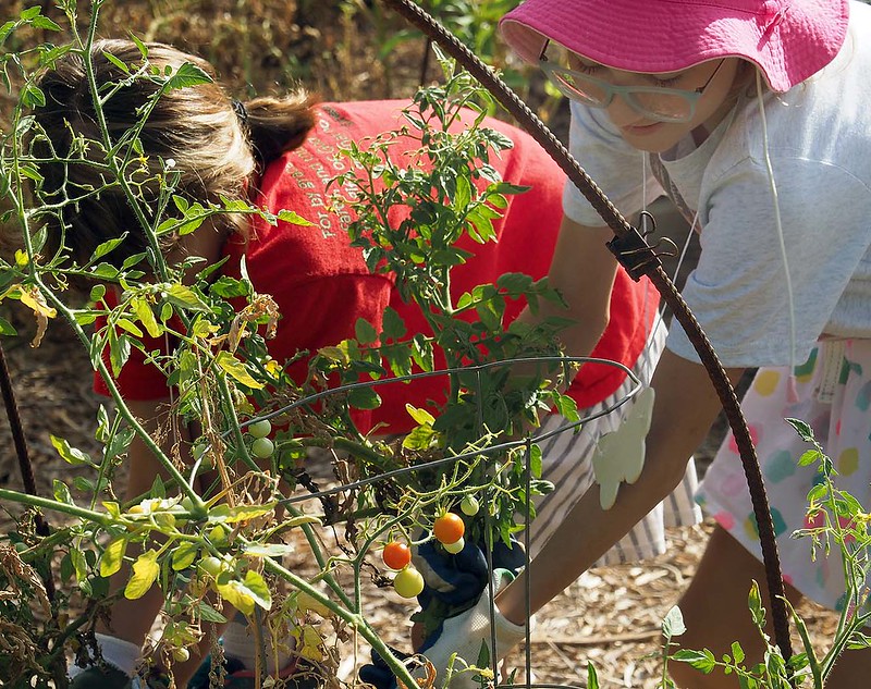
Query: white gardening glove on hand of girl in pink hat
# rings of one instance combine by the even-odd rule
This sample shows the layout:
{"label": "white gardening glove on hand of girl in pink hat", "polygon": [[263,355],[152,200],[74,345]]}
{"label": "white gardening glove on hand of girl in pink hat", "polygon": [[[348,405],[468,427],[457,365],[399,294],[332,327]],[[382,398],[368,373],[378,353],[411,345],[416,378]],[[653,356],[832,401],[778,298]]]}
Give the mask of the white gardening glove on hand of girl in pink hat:
{"label": "white gardening glove on hand of girl in pink hat", "polygon": [[[491,677],[493,655],[499,660],[505,657],[515,645],[526,638],[526,625],[515,625],[508,622],[499,612],[499,608],[495,608],[495,619],[492,625],[496,635],[495,654],[489,654],[490,659],[486,667],[468,669],[468,667],[478,662],[481,643],[487,644],[487,648],[490,649],[492,642],[490,633],[490,591],[499,591],[503,578],[510,581],[511,575],[506,570],[493,573],[492,583],[484,588],[475,606],[444,620],[441,633],[438,635],[436,642],[430,648],[426,648],[425,644],[425,648],[420,650],[419,653],[425,655],[436,667],[434,686],[437,688],[442,689],[445,687],[447,666],[452,665],[453,662],[451,689],[476,689],[476,687],[479,687],[479,680],[475,678],[481,672],[488,678]],[[452,661],[454,654],[456,654],[456,657]]]}

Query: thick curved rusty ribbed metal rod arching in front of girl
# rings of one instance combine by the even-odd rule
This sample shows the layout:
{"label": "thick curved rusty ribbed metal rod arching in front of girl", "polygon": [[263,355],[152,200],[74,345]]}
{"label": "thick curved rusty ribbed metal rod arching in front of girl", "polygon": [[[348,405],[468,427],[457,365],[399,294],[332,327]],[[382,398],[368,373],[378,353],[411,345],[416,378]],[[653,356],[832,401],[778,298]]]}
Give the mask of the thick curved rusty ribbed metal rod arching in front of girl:
{"label": "thick curved rusty ribbed metal rod arching in front of girl", "polygon": [[[653,285],[659,290],[662,298],[671,307],[674,317],[684,328],[689,341],[696,348],[702,365],[711,379],[720,402],[728,419],[735,442],[741,457],[750,497],[753,505],[759,540],[762,546],[762,561],[765,566],[765,577],[769,595],[771,598],[772,619],[774,624],[774,638],[785,660],[793,655],[789,641],[789,617],[784,601],[785,592],[781,575],[777,544],[774,540],[774,525],[769,509],[765,488],[762,483],[762,473],[756,455],[747,421],[741,413],[738,398],[726,377],[723,366],[716,356],[711,343],[702,332],[689,307],[677,292],[674,283],[665,274],[662,264],[641,237],[614,205],[605,197],[592,179],[575,161],[563,144],[548,130],[526,103],[502,82],[492,70],[477,58],[466,46],[459,42],[450,32],[436,22],[427,12],[421,10],[410,0],[382,0],[388,7],[403,16],[414,26],[424,32],[425,36],[439,44],[447,54],[455,59],[467,72],[477,78],[481,85],[499,101],[499,103],[514,116],[519,125],[553,158],[563,169],[568,179],[577,186],[584,197],[601,216],[605,224],[614,232],[616,238],[609,243],[609,247],[617,259],[627,268],[635,280],[648,275]],[[627,248],[628,247],[628,248]],[[640,250],[639,250],[640,249]],[[634,255],[633,262],[627,266],[624,260],[628,255]],[[635,267],[635,270],[633,269]]]}

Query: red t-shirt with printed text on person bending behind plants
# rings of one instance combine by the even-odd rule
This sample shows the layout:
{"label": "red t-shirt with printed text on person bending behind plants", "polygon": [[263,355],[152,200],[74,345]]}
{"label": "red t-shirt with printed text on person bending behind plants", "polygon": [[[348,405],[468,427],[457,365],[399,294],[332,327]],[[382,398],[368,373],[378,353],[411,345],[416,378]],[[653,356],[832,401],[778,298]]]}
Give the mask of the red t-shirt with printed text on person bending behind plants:
{"label": "red t-shirt with printed text on person bending behind plants", "polygon": [[[266,170],[259,184],[260,196],[254,202],[272,212],[287,209],[297,212],[312,226],[279,222],[272,226],[257,219],[245,246],[230,241],[224,254],[230,260],[224,273],[238,278],[238,259],[243,251],[247,272],[255,290],[270,294],[282,315],[274,340],[269,341],[271,356],[282,361],[298,350],[316,352],[355,336],[357,319],[369,321],[381,331],[388,305],[396,309],[407,331],[428,333],[429,329],[414,305],[402,302],[390,275],[373,275],[367,270],[361,250],[351,247],[344,230],[346,219],[328,210],[332,190],[327,183],[348,165],[346,158],[336,159],[338,148],[351,142],[361,143],[403,124],[400,111],[405,101],[371,101],[323,103],[303,146],[285,153]],[[491,164],[503,179],[531,188],[508,196],[502,218],[494,220],[498,243],[477,244],[467,237],[461,246],[475,256],[452,271],[452,292],[456,299],[473,287],[494,283],[506,272],[522,272],[535,279],[547,274],[562,219],[562,192],[565,175],[551,158],[527,134],[504,122],[488,119],[486,125],[514,142],[514,148],[493,156]],[[416,148],[413,140],[398,144],[391,150],[400,162],[404,152]],[[580,263],[580,261],[579,261]],[[623,270],[617,271],[611,302],[611,321],[592,356],[619,361],[631,367],[641,353],[650,332],[659,295],[647,279],[635,283]],[[506,322],[515,318],[523,304],[507,306]],[[147,347],[157,348],[151,343]],[[145,366],[134,354],[124,366],[118,384],[130,399],[152,399],[168,394],[165,381],[152,367]],[[443,367],[444,360],[437,359]],[[297,380],[305,377],[305,361],[291,369]],[[588,407],[612,394],[625,379],[625,373],[611,366],[585,366],[575,379],[569,394],[579,407]],[[445,377],[425,378],[409,384],[380,385],[383,403],[358,421],[387,423],[390,432],[404,432],[413,421],[405,404],[427,406],[428,401],[443,402]],[[97,377],[96,390],[106,393]]]}

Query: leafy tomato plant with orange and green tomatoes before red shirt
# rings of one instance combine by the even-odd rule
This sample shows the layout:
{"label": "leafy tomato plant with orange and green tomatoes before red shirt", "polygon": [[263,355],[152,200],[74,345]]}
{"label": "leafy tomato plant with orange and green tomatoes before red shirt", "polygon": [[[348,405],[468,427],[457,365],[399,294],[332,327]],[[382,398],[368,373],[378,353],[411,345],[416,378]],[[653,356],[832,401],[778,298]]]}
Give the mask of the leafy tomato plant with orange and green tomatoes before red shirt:
{"label": "leafy tomato plant with orange and green tomatoes before red shirt", "polygon": [[[61,4],[70,25],[83,21],[75,15],[74,0]],[[108,2],[93,3],[91,28],[103,4]],[[25,10],[20,21],[0,21],[4,36],[28,25],[40,32],[53,30],[54,21],[41,16],[40,11],[34,7]],[[228,213],[234,216],[233,224],[254,219],[270,225],[304,225],[311,219],[297,217],[294,209],[268,211],[245,198],[193,200],[183,188],[175,161],[150,155],[145,119],[161,98],[205,87],[211,77],[193,63],[158,69],[156,61],[149,63],[151,54],[145,44],[136,44],[135,64],[113,60],[105,51],[91,51],[89,41],[96,33],[74,32],[65,47],[52,44],[24,56],[26,59],[20,60],[15,53],[9,61],[10,69],[21,71],[15,78],[27,87],[21,93],[12,126],[0,132],[0,194],[12,206],[9,212],[3,206],[2,220],[17,221],[24,248],[12,263],[0,258],[0,299],[20,299],[34,311],[40,328],[51,318],[63,319],[115,396],[111,410],[101,408],[98,415],[95,434],[100,456],[88,456],[62,439],[52,439],[65,462],[83,471],[93,469],[93,476],[76,477],[72,487],[56,482],[52,504],[64,513],[64,526],[58,526],[50,539],[37,537],[33,524],[23,519],[11,550],[21,552],[26,564],[38,571],[26,573],[21,585],[26,594],[21,599],[41,601],[34,582],[39,582],[40,576],[49,580],[52,563],[59,562],[60,588],[103,607],[95,613],[90,603],[77,605],[87,607],[89,616],[71,624],[71,630],[79,631],[63,638],[71,644],[75,640],[75,648],[82,649],[93,639],[88,636],[93,620],[111,615],[110,579],[126,577],[122,588],[131,600],[154,599],[146,594],[159,590],[167,629],[186,630],[165,637],[160,661],[170,662],[194,656],[197,645],[196,652],[208,647],[205,630],[211,623],[223,622],[209,603],[210,594],[217,593],[248,619],[268,613],[270,625],[284,625],[289,636],[294,633],[290,630],[294,618],[298,622],[309,615],[329,619],[323,627],[339,637],[344,625],[354,625],[372,648],[393,661],[394,673],[405,677],[404,667],[392,659],[361,607],[359,585],[367,578],[364,567],[371,565],[370,552],[391,533],[425,529],[439,506],[453,504],[456,496],[470,490],[480,491],[492,505],[488,514],[492,522],[470,519],[466,532],[462,517],[446,516],[433,525],[437,538],[449,552],[462,550],[467,540],[508,541],[517,528],[520,499],[514,489],[522,485],[526,457],[520,450],[492,448],[535,420],[538,409],[548,408],[553,399],[543,379],[517,384],[507,367],[489,376],[465,365],[478,367],[525,353],[559,354],[553,323],[519,333],[502,322],[511,302],[559,300],[559,295],[544,281],[519,274],[501,278],[498,284],[478,285],[462,296],[445,288],[451,270],[471,255],[467,248],[457,248],[456,242],[462,236],[473,246],[495,241],[494,221],[507,207],[508,196],[522,190],[503,182],[490,164],[490,157],[499,156],[511,142],[482,127],[474,113],[467,127],[450,131],[459,108],[479,98],[468,76],[452,67],[445,72],[444,85],[421,93],[409,106],[402,127],[383,139],[367,142],[367,146],[371,144],[367,150],[345,151],[344,162],[335,170],[348,172],[336,177],[334,188],[348,193],[348,212],[345,218],[343,211],[336,226],[346,226],[349,241],[372,272],[391,271],[391,283],[395,280],[400,296],[409,309],[420,311],[428,328],[413,331],[389,308],[379,327],[358,322],[354,340],[316,353],[290,353],[306,365],[303,373],[291,377],[290,361],[270,358],[269,340],[279,319],[290,320],[294,315],[280,313],[270,295],[258,293],[245,267],[231,276],[220,266],[204,266],[193,257],[176,264],[167,260],[161,247],[170,236],[185,235]],[[15,40],[11,44],[17,46]],[[46,125],[30,115],[45,94],[35,86],[36,71],[28,70],[49,67],[48,63],[63,59],[66,50],[86,63],[108,59],[119,72],[101,89],[105,97],[93,94],[93,102],[87,103],[95,115],[93,132],[76,139],[72,149],[59,151],[48,132],[40,128]],[[37,64],[40,61],[44,63]],[[114,106],[110,102],[114,95],[138,79],[154,89],[154,98],[140,111],[142,121],[135,122],[133,116],[126,131],[110,131],[100,110],[107,103]],[[84,100],[88,100],[87,94]],[[419,146],[403,161],[404,169],[390,156],[382,156],[397,137],[410,137],[413,148]],[[111,160],[95,160],[91,151],[111,151]],[[74,188],[65,188],[63,181],[60,188],[52,189],[39,172],[52,161],[63,170],[88,170],[96,176],[87,184],[73,184]],[[106,238],[96,246],[48,245],[51,233],[46,227],[53,221],[62,224],[68,211],[78,212],[78,205],[108,207],[115,193],[119,205],[132,211],[125,236]],[[28,204],[32,199],[34,208],[26,207],[24,199]],[[395,226],[380,226],[381,220],[396,216],[393,206],[406,209],[401,216],[407,219]],[[329,213],[324,210],[324,214]],[[428,220],[418,222],[420,219]],[[137,221],[140,226],[134,226]],[[131,246],[127,239],[133,235],[140,247]],[[59,242],[72,242],[71,237],[73,233]],[[385,247],[392,249],[385,251]],[[33,260],[37,256],[40,260]],[[98,283],[85,306],[65,302],[64,290],[56,290],[73,279]],[[112,285],[111,294],[116,297],[111,305],[103,299],[107,285]],[[12,325],[0,318],[0,334],[12,333]],[[112,389],[133,356],[151,360],[173,390],[173,422],[156,433],[146,431],[125,405],[123,393]],[[380,404],[376,383],[391,376],[438,372],[437,362],[457,370],[443,373],[443,403],[414,410],[417,426],[410,433],[380,436],[357,427],[352,409]],[[336,390],[344,384],[354,389]],[[479,408],[484,411],[480,422],[475,413]],[[274,428],[266,419],[246,423],[255,410],[281,421]],[[200,430],[188,445],[192,439],[180,429],[195,426]],[[122,491],[112,481],[134,439],[148,447],[161,476],[168,478],[156,479],[147,494],[131,506],[118,501]],[[180,452],[186,447],[194,459],[191,466],[184,462],[187,453]],[[343,485],[321,490],[307,473],[306,459],[312,447],[347,456],[333,465]],[[469,453],[470,448],[475,452]],[[464,454],[467,458],[444,463]],[[269,459],[269,470],[252,458]],[[433,469],[432,463],[438,460],[442,464]],[[498,465],[498,470],[492,471],[488,464]],[[389,478],[382,478],[388,473]],[[284,490],[280,479],[291,491]],[[351,488],[355,483],[356,488]],[[535,482],[532,489],[536,492]],[[299,493],[314,500],[304,504],[297,500]],[[2,499],[4,504],[10,499],[46,508],[45,503],[36,505],[38,501],[14,491],[3,492]],[[474,516],[468,513],[471,503],[464,504],[463,514]],[[279,521],[282,512],[285,517]],[[340,524],[346,526],[347,541],[326,546],[323,533]],[[307,565],[317,571],[300,574],[282,566],[282,556],[291,550],[283,537],[291,529],[305,532],[298,541],[311,547]],[[400,595],[414,596],[421,591],[422,577],[410,565],[406,543],[389,544],[382,557],[397,571],[393,587]],[[277,582],[291,593],[273,600]],[[387,578],[379,578],[378,583],[390,586]],[[62,599],[57,607],[48,605],[46,610],[63,610],[65,602]],[[11,605],[4,604],[4,611]],[[434,616],[444,613],[429,612]],[[26,612],[15,617],[22,629],[32,627],[33,619]],[[323,676],[334,677],[332,664],[340,654],[320,648],[324,641],[317,626],[306,619],[294,628],[300,653],[318,663]],[[45,676],[50,663],[57,665],[57,676],[62,675],[64,652],[70,649],[52,647],[58,638],[58,629],[49,629],[44,635],[48,642],[33,643],[36,660],[22,660],[32,663],[25,675],[39,675],[39,681],[28,686],[61,686]],[[46,657],[53,660],[40,665]],[[5,662],[0,659],[0,681],[5,680]],[[410,686],[412,679],[403,681]]]}

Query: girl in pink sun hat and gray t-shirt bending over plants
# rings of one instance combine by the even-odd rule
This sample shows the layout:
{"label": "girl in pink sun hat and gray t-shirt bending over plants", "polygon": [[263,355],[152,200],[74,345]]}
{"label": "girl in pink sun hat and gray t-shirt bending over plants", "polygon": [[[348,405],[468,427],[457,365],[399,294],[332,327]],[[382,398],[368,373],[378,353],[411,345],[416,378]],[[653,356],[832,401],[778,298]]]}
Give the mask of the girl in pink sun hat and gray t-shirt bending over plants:
{"label": "girl in pink sun hat and gray t-shirt bending over plants", "polygon": [[[836,485],[870,508],[871,8],[848,0],[526,0],[501,29],[572,100],[569,148],[624,216],[667,195],[698,233],[701,254],[683,296],[733,381],[758,369],[743,408],[787,594],[842,608],[839,554],[818,552],[812,562],[810,539],[792,537],[818,526],[806,510],[820,477],[815,466],[799,466],[810,445],[784,419],[811,426],[838,471]],[[611,231],[573,185],[563,212],[549,276],[578,322],[565,336],[578,356],[606,322],[619,269],[604,246]],[[604,469],[597,472],[599,485],[579,496],[528,573],[499,593],[501,650],[508,645],[502,629],[516,633],[508,625],[526,618],[526,591],[536,612],[624,538],[679,482],[720,410],[679,327],[668,333],[651,387],[646,440],[645,423],[637,438],[626,423],[616,433],[626,450],[610,456],[603,448],[615,443],[600,443],[593,456],[593,464],[598,455],[600,466],[616,465],[646,442],[638,478],[615,485]],[[716,527],[680,601],[688,629],[680,641],[717,657],[739,641],[750,667],[763,648],[747,594],[765,573],[731,438],[696,500]],[[491,625],[479,617],[451,622],[428,657],[438,666],[457,651],[474,661],[481,640],[490,641]],[[680,687],[736,684],[680,663],[670,669]],[[869,672],[871,650],[848,651],[826,687],[867,686]]]}

